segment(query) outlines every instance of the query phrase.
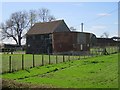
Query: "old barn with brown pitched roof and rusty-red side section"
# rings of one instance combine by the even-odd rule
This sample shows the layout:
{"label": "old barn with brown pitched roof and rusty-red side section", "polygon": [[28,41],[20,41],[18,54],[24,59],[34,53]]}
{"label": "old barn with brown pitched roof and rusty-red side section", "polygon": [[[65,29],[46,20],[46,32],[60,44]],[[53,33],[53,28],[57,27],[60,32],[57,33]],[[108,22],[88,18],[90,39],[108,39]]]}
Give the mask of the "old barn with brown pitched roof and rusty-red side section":
{"label": "old barn with brown pitched roof and rusty-red side section", "polygon": [[70,31],[64,20],[36,23],[26,34],[26,53],[88,53],[93,37],[92,33]]}

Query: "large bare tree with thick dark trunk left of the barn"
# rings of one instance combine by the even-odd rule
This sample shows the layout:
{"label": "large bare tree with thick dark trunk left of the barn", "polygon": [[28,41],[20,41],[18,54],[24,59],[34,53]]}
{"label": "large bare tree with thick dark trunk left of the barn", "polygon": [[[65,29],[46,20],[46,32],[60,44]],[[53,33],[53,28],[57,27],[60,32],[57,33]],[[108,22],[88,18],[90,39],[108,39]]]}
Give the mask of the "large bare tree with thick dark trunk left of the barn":
{"label": "large bare tree with thick dark trunk left of the barn", "polygon": [[29,22],[26,11],[13,13],[9,20],[0,25],[2,39],[12,38],[17,45],[21,46],[21,39],[24,36],[23,31],[28,28]]}

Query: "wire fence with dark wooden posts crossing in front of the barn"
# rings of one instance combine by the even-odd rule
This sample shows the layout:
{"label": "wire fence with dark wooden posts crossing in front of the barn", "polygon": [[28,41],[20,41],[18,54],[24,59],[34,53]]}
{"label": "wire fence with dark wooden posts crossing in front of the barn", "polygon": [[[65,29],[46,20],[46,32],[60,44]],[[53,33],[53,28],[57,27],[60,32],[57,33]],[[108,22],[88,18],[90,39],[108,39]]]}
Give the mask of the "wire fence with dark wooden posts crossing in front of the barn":
{"label": "wire fence with dark wooden posts crossing in front of the barn", "polygon": [[[118,52],[118,48],[108,48],[109,54]],[[88,55],[34,55],[34,54],[4,54],[2,55],[2,73],[24,70],[36,66],[57,64],[71,60],[81,60],[88,57],[102,55],[102,48],[92,48]]]}

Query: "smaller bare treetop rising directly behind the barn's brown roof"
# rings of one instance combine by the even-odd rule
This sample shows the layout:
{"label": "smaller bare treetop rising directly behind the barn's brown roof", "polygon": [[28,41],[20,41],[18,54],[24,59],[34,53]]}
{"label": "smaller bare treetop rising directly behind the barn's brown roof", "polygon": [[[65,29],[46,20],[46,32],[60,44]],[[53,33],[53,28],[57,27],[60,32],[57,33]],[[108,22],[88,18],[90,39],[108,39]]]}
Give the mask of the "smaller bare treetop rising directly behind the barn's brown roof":
{"label": "smaller bare treetop rising directly behind the barn's brown roof", "polygon": [[39,9],[38,15],[41,22],[49,22],[55,20],[55,17],[53,15],[50,15],[49,9],[46,8]]}

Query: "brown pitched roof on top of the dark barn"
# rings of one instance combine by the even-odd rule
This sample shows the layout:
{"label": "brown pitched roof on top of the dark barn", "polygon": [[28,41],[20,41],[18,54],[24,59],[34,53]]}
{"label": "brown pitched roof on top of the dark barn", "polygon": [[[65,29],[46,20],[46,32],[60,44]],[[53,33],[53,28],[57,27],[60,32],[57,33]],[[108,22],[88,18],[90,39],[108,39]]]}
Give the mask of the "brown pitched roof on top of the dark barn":
{"label": "brown pitched roof on top of the dark barn", "polygon": [[57,31],[56,29],[59,27],[59,31],[62,31],[60,28],[60,25],[64,24],[64,30],[70,31],[67,25],[65,24],[64,20],[57,20],[57,21],[51,21],[51,22],[40,22],[36,23],[28,32],[27,34],[47,34],[47,33],[53,33]]}

